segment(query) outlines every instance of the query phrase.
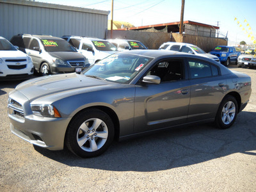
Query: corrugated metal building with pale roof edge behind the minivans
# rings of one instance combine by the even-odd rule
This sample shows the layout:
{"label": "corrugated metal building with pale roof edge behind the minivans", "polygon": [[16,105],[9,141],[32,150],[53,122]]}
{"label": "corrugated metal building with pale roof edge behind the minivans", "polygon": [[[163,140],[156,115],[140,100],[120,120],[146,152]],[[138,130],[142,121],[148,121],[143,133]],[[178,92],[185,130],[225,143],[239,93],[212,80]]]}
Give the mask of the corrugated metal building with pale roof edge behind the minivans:
{"label": "corrugated metal building with pale roof edge behind the minivans", "polygon": [[105,38],[108,14],[106,11],[33,1],[0,0],[0,36],[8,40],[19,33]]}

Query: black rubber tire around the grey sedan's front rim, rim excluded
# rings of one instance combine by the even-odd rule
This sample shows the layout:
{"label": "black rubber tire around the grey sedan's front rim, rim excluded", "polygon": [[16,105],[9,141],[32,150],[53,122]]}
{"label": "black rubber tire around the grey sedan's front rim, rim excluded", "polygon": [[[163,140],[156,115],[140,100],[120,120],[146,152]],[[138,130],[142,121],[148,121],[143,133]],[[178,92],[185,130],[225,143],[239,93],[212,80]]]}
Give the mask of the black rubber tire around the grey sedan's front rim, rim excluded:
{"label": "black rubber tire around the grey sedan's front rim, rim excluded", "polygon": [[[108,139],[106,140],[106,143],[104,143],[104,145],[101,148],[99,148],[99,150],[96,150],[94,152],[87,152],[83,150],[81,147],[79,147],[77,143],[77,131],[79,130],[80,125],[90,118],[99,118],[108,127]],[[95,157],[99,156],[108,149],[108,147],[111,145],[113,141],[114,133],[115,129],[113,122],[109,115],[104,113],[104,111],[100,111],[99,109],[85,110],[79,113],[79,115],[76,115],[68,125],[65,136],[65,144],[67,145],[68,149],[77,156]]]}

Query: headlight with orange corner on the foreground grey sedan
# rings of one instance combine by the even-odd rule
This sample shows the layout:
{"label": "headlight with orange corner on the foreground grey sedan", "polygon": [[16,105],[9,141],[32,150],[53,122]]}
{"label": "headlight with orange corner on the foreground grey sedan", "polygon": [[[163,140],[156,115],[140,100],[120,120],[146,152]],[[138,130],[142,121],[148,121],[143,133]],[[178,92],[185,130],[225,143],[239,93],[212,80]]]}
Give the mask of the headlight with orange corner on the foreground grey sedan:
{"label": "headlight with orange corner on the foreground grey sedan", "polygon": [[44,117],[61,117],[59,111],[49,104],[31,105],[31,109],[34,115]]}

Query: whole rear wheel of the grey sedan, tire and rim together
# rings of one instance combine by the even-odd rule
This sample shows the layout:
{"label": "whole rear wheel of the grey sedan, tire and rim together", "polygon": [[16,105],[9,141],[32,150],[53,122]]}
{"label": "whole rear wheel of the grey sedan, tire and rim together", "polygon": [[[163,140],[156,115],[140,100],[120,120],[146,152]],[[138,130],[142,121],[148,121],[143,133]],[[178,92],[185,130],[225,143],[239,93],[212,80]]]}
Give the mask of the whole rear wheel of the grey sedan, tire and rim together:
{"label": "whole rear wheel of the grey sedan, tire and rim together", "polygon": [[221,101],[218,112],[215,117],[215,124],[220,129],[227,129],[231,127],[238,113],[237,100],[231,96],[227,95]]}

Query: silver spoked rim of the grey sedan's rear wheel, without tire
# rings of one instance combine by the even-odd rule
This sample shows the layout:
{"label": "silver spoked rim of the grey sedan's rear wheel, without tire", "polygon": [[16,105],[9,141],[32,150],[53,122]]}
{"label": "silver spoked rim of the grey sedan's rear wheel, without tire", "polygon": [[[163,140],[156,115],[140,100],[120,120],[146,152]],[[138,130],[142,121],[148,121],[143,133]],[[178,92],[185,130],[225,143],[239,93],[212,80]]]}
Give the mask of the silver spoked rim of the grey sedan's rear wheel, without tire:
{"label": "silver spoked rim of the grey sedan's rear wheel, without tire", "polygon": [[222,109],[222,122],[225,125],[228,125],[232,122],[232,120],[234,120],[236,115],[236,106],[234,104],[234,102],[232,101],[228,101],[225,106],[223,106]]}

